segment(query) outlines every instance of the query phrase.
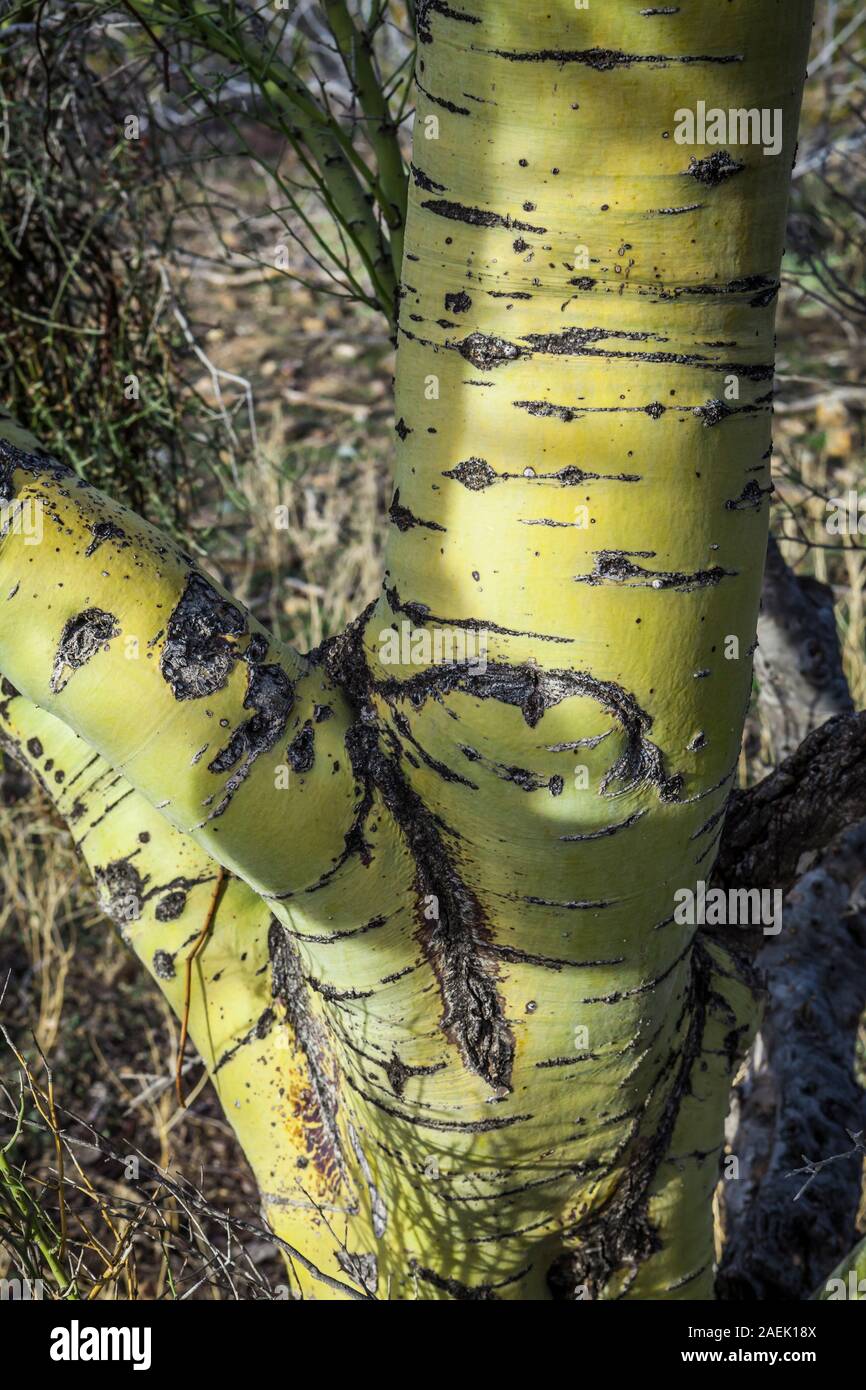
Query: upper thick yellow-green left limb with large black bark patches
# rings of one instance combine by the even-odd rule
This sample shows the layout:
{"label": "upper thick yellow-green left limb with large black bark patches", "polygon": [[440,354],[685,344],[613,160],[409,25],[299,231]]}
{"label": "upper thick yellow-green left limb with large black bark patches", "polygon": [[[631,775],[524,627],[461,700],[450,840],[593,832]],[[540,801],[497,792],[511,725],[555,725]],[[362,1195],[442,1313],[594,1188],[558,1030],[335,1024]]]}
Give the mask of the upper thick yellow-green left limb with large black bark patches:
{"label": "upper thick yellow-green left limb with large black bark patches", "polygon": [[348,702],[172,542],[24,442],[0,438],[0,493],[35,525],[0,539],[8,678],[234,874],[306,888],[353,820]]}

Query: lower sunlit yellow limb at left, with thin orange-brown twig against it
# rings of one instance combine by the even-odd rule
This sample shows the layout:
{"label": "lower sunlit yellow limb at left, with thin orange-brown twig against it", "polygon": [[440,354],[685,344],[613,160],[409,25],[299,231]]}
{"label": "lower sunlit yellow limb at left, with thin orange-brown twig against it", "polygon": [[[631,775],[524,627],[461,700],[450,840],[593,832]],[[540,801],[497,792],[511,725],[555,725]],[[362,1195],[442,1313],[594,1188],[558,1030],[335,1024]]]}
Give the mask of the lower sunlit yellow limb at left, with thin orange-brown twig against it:
{"label": "lower sunlit yellow limb at left, with thin orange-brown twig against it", "polygon": [[[320,1266],[339,1273],[321,1212],[335,1205],[350,1211],[353,1198],[342,1165],[322,1143],[318,1059],[309,1056],[274,994],[270,910],[236,878],[218,892],[221,870],[214,860],[83,739],[6,680],[0,744],[49,792],[95,877],[103,910],[174,1011],[188,1016],[189,1034],[253,1166],[277,1237],[289,1243],[285,1248],[295,1262],[295,1247],[302,1247],[311,1261],[302,1268],[313,1282]],[[190,951],[196,958],[186,995]],[[304,1287],[304,1276],[299,1277]]]}

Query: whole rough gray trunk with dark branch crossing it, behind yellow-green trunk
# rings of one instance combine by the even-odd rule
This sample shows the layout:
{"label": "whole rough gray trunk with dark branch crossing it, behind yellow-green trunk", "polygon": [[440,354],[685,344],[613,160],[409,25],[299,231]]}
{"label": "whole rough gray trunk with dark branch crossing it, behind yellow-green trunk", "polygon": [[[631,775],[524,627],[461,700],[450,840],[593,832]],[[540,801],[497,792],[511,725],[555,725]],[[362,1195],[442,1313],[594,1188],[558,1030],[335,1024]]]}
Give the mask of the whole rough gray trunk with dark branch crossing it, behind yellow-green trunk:
{"label": "whole rough gray trunk with dark branch crossing it, behind yellow-green trunk", "polygon": [[[716,881],[791,884],[777,937],[744,947],[767,983],[765,1020],[734,1088],[724,1184],[723,1298],[808,1298],[855,1238],[860,1163],[828,1165],[795,1201],[803,1156],[851,1147],[863,1126],[853,1073],[866,1001],[866,716],[853,714],[833,594],[794,575],[770,539],[755,670],[762,721],[781,766],[735,792]],[[852,828],[845,828],[852,827]],[[816,853],[838,840],[823,853]]]}

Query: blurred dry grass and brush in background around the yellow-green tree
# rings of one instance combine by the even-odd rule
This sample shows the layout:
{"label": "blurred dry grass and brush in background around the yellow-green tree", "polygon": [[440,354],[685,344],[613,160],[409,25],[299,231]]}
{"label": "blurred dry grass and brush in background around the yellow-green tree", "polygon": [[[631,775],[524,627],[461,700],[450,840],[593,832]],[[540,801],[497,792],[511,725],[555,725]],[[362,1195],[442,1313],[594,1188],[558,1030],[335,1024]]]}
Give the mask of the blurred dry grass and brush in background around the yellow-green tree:
{"label": "blurred dry grass and brush in background around the yellow-green tree", "polygon": [[[363,76],[363,54],[346,64],[317,4],[231,8],[253,35],[261,17],[278,24],[286,70],[346,132],[361,183],[377,158],[391,167],[391,188],[368,197],[386,265],[393,152],[407,160],[411,129],[409,7],[350,6],[389,152],[371,149],[375,93],[348,78]],[[332,190],[299,136],[303,103],[274,107],[236,51],[204,51],[189,25],[152,24],[153,10],[0,0],[0,399],[307,649],[379,585],[386,284],[368,247],[335,239]],[[833,587],[858,708],[863,550],[826,521],[827,499],[866,493],[865,171],[866,10],[819,0],[778,313],[773,531],[798,574]],[[755,706],[741,780],[767,760]],[[93,906],[50,802],[8,760],[0,856],[1,1017],[18,1049],[0,1042],[0,1111],[21,1116],[0,1123],[0,1144],[13,1136],[0,1277],[43,1279],[44,1297],[72,1277],[79,1297],[285,1297],[210,1087],[177,1109],[177,1023]],[[860,1062],[866,1084],[863,1030]],[[56,1108],[81,1134],[78,1166],[60,1173]],[[93,1131],[140,1155],[146,1180],[100,1154]],[[57,1248],[63,1268],[46,1255]]]}

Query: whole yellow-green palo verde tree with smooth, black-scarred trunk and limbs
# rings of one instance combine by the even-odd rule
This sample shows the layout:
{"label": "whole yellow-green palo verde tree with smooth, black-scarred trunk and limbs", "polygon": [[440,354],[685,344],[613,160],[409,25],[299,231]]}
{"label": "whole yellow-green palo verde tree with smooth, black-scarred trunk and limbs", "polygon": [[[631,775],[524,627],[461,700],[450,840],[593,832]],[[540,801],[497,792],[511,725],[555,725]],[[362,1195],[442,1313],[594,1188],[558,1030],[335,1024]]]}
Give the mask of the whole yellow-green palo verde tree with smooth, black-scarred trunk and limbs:
{"label": "whole yellow-green palo verde tree with smooth, black-scarred trunk and limbs", "polygon": [[[759,990],[676,902],[749,699],[810,0],[418,0],[409,178],[354,13],[368,163],[214,8],[125,7],[243,58],[396,314],[382,594],[286,649],[6,417],[4,738],[304,1294],[710,1298]],[[788,794],[738,806],[727,884],[830,833]]]}

